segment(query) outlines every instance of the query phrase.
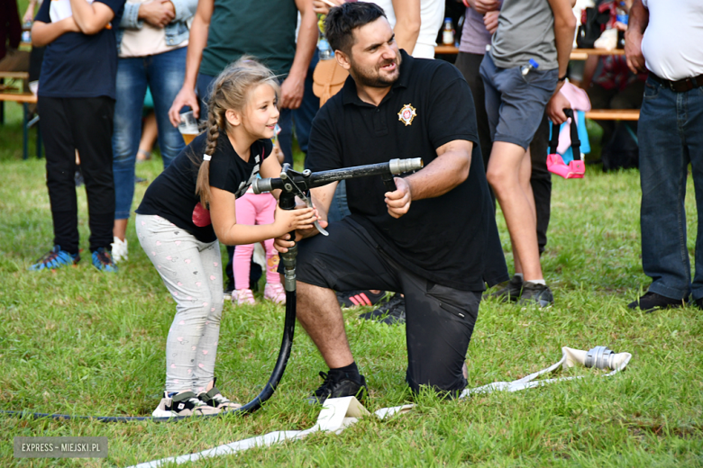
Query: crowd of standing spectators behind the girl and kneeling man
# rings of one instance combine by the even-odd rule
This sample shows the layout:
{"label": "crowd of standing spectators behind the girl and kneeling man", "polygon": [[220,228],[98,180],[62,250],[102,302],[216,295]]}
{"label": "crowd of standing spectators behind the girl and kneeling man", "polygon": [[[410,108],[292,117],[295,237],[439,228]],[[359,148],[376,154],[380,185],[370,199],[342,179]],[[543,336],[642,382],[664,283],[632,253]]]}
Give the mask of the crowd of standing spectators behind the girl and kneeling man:
{"label": "crowd of standing spectators behind the girl and kneeling man", "polygon": [[[317,25],[318,14],[326,14],[331,5],[341,3],[342,0],[30,3],[23,22],[34,22],[32,56],[46,49],[41,61],[38,112],[46,145],[54,225],[54,247],[32,268],[69,265],[80,258],[74,180],[79,168],[87,190],[93,265],[103,271],[116,271],[115,264],[128,258],[125,233],[132,215],[135,162],[140,151],[146,157],[151,147],[144,139],[148,134],[151,137],[147,139],[151,140],[154,133],[158,135],[164,167],[169,166],[185,147],[177,130],[179,114],[192,110],[196,116],[205,115],[205,100],[215,76],[243,55],[260,59],[278,76],[278,146],[283,161],[292,163],[294,135],[306,153],[312,121],[320,106],[313,92],[315,68],[328,58],[322,47],[318,49],[323,37]],[[553,301],[539,262],[547,243],[551,210],[551,174],[546,166],[548,127],[550,119],[564,121],[561,109],[570,106],[559,94],[559,88],[569,72],[577,23],[571,8],[576,3],[378,2],[394,28],[399,48],[416,58],[434,58],[445,12],[449,15],[456,11],[457,5],[462,12],[455,31],[459,46],[455,65],[473,94],[488,182],[506,216],[516,259],[515,275],[494,293],[505,300],[526,300],[541,306]],[[676,42],[671,38],[685,31],[692,31],[694,37],[703,21],[696,2],[680,0],[677,5],[671,8],[677,12],[677,32],[663,34],[653,26],[667,28],[674,20],[663,11],[662,2],[595,2],[598,11],[608,12],[603,29],[627,31],[627,58],[592,56],[583,70],[572,68],[569,72],[587,90],[594,107],[638,108],[643,96],[644,103],[650,105],[643,110],[639,129],[636,123],[599,122],[604,130],[604,166],[616,157],[612,155],[625,151],[634,154],[622,166],[636,165],[638,148],[636,143],[633,148],[632,140],[636,141],[639,134],[640,140],[650,142],[646,150],[644,145],[640,147],[639,159],[643,165],[643,263],[645,273],[653,278],[653,289],[630,304],[645,310],[680,305],[691,293],[693,300],[703,299],[703,289],[698,290],[703,286],[696,286],[697,281],[703,284],[703,280],[690,279],[685,240],[680,241],[685,239],[685,232],[674,236],[647,228],[662,225],[662,220],[671,216],[674,218],[667,225],[681,226],[680,201],[684,193],[680,186],[685,183],[689,163],[693,165],[694,181],[698,180],[696,158],[701,149],[695,135],[703,132],[699,131],[699,116],[690,110],[699,106],[693,101],[684,106],[680,100],[698,97],[703,60],[691,45],[696,40],[686,36],[688,39]],[[0,70],[29,67],[29,58],[15,51],[22,33],[22,12],[18,12],[14,0],[4,0],[2,8]],[[629,29],[620,21],[622,18],[616,17],[623,10],[630,12]],[[262,31],[262,24],[266,31]],[[668,41],[669,49],[655,45],[652,38],[659,39],[660,35]],[[530,58],[538,66],[525,72]],[[513,77],[505,70],[510,70]],[[653,109],[657,100],[668,93],[673,96],[669,107]],[[145,103],[153,108],[153,116],[148,119],[144,118]],[[689,112],[687,127],[681,129],[671,123],[674,126],[665,135],[653,139],[653,130],[661,127],[662,119],[674,118],[677,112]],[[647,127],[643,129],[643,125]],[[693,133],[689,135],[689,131]],[[629,148],[620,143],[623,139],[629,141]],[[662,157],[670,149],[682,155],[676,165],[669,160],[652,162],[652,157]],[[667,180],[671,179],[666,189],[652,180],[662,175],[662,166],[676,166],[677,171],[683,171],[666,174]],[[666,199],[668,204],[663,202],[662,193],[673,197]],[[344,196],[344,186],[340,184],[331,219],[341,219],[348,213]],[[645,232],[653,232],[653,238],[644,236]],[[664,247],[670,244],[671,252],[665,252]],[[675,253],[677,248],[680,252]],[[246,284],[240,279],[235,284],[234,247],[228,247],[228,252],[225,271],[229,284],[225,289],[230,293],[251,290],[256,281]],[[277,262],[274,256],[269,248],[269,273]],[[240,261],[246,262],[247,257],[242,256]],[[703,260],[696,264],[703,266]],[[254,276],[256,268],[251,268]],[[339,300],[346,305],[375,304],[383,296],[374,290],[340,292]],[[251,299],[248,293],[234,293],[233,297],[238,301],[242,297],[244,301]],[[396,298],[379,311],[384,317],[390,313],[402,320],[402,308],[402,300]],[[379,313],[370,317],[379,317]]]}

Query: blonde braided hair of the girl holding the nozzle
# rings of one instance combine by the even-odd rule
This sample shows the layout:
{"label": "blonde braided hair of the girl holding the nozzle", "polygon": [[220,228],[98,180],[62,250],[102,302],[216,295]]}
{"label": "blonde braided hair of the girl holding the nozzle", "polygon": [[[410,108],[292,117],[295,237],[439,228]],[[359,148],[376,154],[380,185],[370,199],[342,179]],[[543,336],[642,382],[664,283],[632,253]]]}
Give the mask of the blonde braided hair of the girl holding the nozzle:
{"label": "blonde braided hair of the girl holding the nozzle", "polygon": [[[229,130],[230,123],[227,121],[225,112],[232,109],[244,114],[249,95],[252,90],[259,85],[270,85],[277,96],[280,91],[278,78],[269,68],[263,66],[256,59],[243,56],[215,78],[213,91],[207,102],[207,143],[205,144],[205,156],[213,157],[217,148],[217,139],[220,131]],[[191,159],[200,165],[197,171],[196,194],[200,197],[203,206],[210,202],[210,161],[202,160],[191,153]]]}

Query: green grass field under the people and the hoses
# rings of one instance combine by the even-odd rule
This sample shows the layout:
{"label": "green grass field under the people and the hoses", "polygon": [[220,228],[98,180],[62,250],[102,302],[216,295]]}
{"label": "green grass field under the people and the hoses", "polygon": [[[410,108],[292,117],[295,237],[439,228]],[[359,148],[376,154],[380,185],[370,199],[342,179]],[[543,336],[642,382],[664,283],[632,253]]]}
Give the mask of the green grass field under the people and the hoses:
{"label": "green grass field under the people and the hoses", "polygon": [[[27,271],[50,248],[49,199],[43,161],[21,157],[19,107],[6,107],[7,122],[0,126],[0,410],[149,415],[162,390],[174,302],[139,247],[133,224],[130,260],[117,275],[98,273],[88,256],[57,272]],[[137,167],[149,180],[159,171],[159,159]],[[369,410],[413,401],[415,410],[388,421],[361,419],[339,436],[318,433],[193,465],[703,465],[701,312],[625,308],[649,283],[640,263],[638,173],[604,175],[589,166],[583,180],[553,182],[543,269],[556,303],[546,310],[482,303],[467,356],[470,386],[542,369],[561,358],[563,346],[630,352],[625,373],[602,379],[602,372],[582,369],[560,374],[584,379],[525,392],[414,400],[404,383],[403,327],[358,320],[359,311],[346,311],[352,350],[370,387]],[[137,186],[135,207],[144,190],[144,184]],[[87,251],[85,190],[78,194],[81,247]],[[687,208],[689,232],[695,233],[691,195]],[[502,216],[498,220],[511,262],[505,223]],[[691,255],[694,241],[689,238]],[[267,381],[282,320],[283,309],[267,302],[225,304],[217,375],[230,398],[249,401]],[[303,399],[321,383],[321,370],[323,360],[298,328],[278,392],[248,417],[177,424],[0,417],[0,466],[122,467],[273,430],[309,428],[318,410]],[[109,456],[14,459],[16,436],[103,436]]]}

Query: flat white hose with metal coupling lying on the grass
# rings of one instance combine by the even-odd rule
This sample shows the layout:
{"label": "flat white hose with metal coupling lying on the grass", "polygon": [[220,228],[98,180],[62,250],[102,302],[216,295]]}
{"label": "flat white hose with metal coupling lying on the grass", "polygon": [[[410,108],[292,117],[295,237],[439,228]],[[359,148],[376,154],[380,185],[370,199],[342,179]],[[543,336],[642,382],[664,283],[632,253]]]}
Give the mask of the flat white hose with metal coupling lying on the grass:
{"label": "flat white hose with metal coupling lying on the grass", "polygon": [[[615,354],[606,347],[594,347],[589,351],[581,351],[580,349],[572,349],[571,347],[562,347],[561,361],[547,367],[546,369],[535,372],[534,374],[529,374],[514,382],[494,382],[474,389],[467,389],[461,392],[459,398],[466,398],[476,393],[490,393],[497,391],[517,392],[529,388],[541,387],[550,383],[580,379],[584,377],[583,375],[578,375],[541,381],[534,380],[540,375],[554,372],[559,366],[564,369],[568,369],[580,364],[587,367],[598,367],[600,369],[609,368],[613,371],[609,374],[603,375],[603,377],[610,377],[625,369],[625,366],[630,362],[630,359],[632,359],[632,355],[630,353]],[[373,414],[379,419],[386,419],[395,414],[406,413],[414,406],[415,405],[403,405],[392,408],[381,408],[380,410],[374,411]],[[318,431],[328,431],[334,432],[335,434],[340,434],[345,428],[355,424],[359,418],[368,415],[370,415],[369,410],[366,410],[366,408],[364,408],[363,405],[361,405],[361,403],[354,397],[330,398],[327,399],[327,401],[324,401],[323,409],[320,411],[320,416],[317,417],[317,422],[312,428],[306,430],[269,432],[269,434],[264,436],[251,437],[233,442],[231,444],[225,444],[224,446],[216,446],[215,448],[198,452],[196,454],[162,458],[152,462],[132,465],[128,468],[156,468],[162,464],[185,464],[188,462],[196,462],[202,458],[233,455],[237,452],[253,447],[272,446],[274,444],[278,444],[279,442],[283,442],[284,440],[302,439]]]}

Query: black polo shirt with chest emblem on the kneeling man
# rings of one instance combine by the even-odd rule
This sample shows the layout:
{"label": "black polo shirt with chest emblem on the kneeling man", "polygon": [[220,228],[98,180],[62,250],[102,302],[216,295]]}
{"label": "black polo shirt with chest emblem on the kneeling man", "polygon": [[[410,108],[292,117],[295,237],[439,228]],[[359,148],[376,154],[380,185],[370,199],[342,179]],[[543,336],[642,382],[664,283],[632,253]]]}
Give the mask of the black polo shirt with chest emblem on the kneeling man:
{"label": "black polo shirt with chest emblem on the kneeling man", "polygon": [[473,142],[469,177],[442,196],[415,200],[399,219],[388,214],[380,177],[347,181],[352,219],[397,263],[464,291],[508,279],[498,239],[469,85],[456,67],[401,50],[400,76],[379,106],[361,101],[352,76],[317,112],[306,166],[313,171],[422,157],[455,139]]}

